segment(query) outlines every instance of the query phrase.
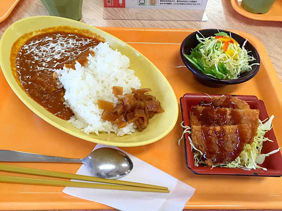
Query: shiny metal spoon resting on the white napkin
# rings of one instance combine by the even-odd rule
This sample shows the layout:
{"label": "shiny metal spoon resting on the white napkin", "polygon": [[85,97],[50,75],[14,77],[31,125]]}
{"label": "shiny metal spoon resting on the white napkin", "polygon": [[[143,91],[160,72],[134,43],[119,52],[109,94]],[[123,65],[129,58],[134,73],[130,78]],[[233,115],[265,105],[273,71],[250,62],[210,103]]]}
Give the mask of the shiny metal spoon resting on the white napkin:
{"label": "shiny metal spoon resting on the white napkin", "polygon": [[84,163],[95,177],[117,179],[132,171],[131,159],[117,149],[99,148],[82,159],[55,157],[27,152],[0,150],[0,161],[3,162],[51,162],[51,163]]}

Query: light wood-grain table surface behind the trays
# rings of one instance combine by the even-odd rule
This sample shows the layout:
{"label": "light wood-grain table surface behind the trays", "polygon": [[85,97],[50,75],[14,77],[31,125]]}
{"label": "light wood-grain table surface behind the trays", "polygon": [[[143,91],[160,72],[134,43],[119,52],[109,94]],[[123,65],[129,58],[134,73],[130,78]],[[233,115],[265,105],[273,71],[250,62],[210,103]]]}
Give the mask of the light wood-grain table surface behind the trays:
{"label": "light wood-grain table surface behind the trays", "polygon": [[[103,19],[102,0],[84,0],[81,22],[93,26],[143,27],[143,28],[219,28],[233,29],[249,33],[259,39],[266,48],[271,61],[282,81],[282,22],[255,21],[238,14],[229,0],[209,0],[208,21],[132,21]],[[39,0],[21,0],[11,15],[0,23],[0,37],[12,23],[30,16],[48,15]]]}

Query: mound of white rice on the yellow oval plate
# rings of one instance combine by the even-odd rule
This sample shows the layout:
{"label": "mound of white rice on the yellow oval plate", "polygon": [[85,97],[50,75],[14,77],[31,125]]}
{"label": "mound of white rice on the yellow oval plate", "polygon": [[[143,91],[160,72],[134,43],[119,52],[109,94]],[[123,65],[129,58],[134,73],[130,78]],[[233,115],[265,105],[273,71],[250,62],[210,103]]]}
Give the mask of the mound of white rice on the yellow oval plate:
{"label": "mound of white rice on the yellow oval plate", "polygon": [[136,126],[127,124],[117,128],[116,124],[101,119],[103,109],[97,105],[98,99],[119,103],[113,95],[113,86],[122,86],[123,94],[131,93],[131,87],[140,89],[140,80],[134,70],[129,69],[129,58],[117,50],[112,50],[108,42],[100,43],[94,49],[92,57],[88,56],[88,64],[82,67],[78,62],[75,70],[63,67],[55,69],[58,87],[64,87],[65,105],[75,114],[68,120],[72,125],[86,134],[99,132],[115,132],[117,136],[132,134]]}

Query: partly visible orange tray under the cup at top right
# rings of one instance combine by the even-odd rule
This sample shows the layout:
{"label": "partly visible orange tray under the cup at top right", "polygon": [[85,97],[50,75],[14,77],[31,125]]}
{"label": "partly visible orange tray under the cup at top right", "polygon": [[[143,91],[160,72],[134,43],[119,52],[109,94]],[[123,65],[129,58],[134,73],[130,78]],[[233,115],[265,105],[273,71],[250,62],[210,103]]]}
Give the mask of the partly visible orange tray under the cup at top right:
{"label": "partly visible orange tray under the cup at top right", "polygon": [[250,13],[246,11],[241,5],[239,6],[238,0],[230,1],[234,10],[247,18],[251,18],[257,21],[282,21],[282,0],[277,0],[271,7],[270,11],[266,14]]}

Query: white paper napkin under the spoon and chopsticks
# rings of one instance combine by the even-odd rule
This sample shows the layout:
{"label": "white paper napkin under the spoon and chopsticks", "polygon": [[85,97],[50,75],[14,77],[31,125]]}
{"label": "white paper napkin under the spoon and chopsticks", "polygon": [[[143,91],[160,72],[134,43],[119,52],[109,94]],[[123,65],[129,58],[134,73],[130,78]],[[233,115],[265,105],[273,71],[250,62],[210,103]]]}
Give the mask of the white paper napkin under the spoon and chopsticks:
{"label": "white paper napkin under the spoon and chopsticks", "polygon": [[[101,147],[117,147],[97,144]],[[94,150],[95,150],[94,149]],[[119,149],[121,150],[121,149]],[[124,152],[123,150],[121,150]],[[63,192],[78,198],[95,201],[114,207],[121,211],[182,211],[187,201],[194,194],[195,188],[157,169],[156,167],[126,153],[133,162],[132,171],[119,180],[146,183],[168,187],[170,193],[150,193],[124,190],[103,190],[92,188],[66,187]],[[83,164],[76,174],[93,176],[88,167]],[[76,181],[76,180],[72,180]]]}

